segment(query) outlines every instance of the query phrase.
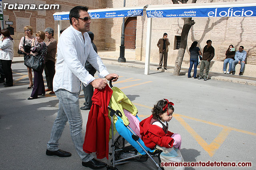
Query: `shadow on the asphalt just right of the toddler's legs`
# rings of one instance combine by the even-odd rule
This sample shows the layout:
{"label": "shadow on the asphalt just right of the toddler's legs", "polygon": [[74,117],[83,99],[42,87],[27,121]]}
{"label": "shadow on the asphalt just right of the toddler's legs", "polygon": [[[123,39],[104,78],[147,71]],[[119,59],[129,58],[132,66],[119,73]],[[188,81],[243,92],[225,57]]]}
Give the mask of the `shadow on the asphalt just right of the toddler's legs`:
{"label": "shadow on the asphalt just right of the toddler's legs", "polygon": [[[196,157],[200,155],[200,152],[196,149],[186,149],[180,150],[184,162],[196,162]],[[193,167],[185,167],[185,170],[195,170]]]}

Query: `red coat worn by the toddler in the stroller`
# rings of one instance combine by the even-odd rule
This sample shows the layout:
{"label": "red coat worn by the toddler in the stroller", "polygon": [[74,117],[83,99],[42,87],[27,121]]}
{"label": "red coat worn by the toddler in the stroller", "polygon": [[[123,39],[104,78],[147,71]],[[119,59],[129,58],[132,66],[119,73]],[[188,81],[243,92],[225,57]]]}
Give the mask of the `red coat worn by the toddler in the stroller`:
{"label": "red coat worn by the toddler in the stroller", "polygon": [[146,147],[154,148],[159,145],[160,147],[170,148],[168,144],[172,147],[174,139],[171,136],[174,133],[168,131],[168,134],[166,134],[158,125],[151,125],[152,118],[153,115],[140,122],[140,135]]}

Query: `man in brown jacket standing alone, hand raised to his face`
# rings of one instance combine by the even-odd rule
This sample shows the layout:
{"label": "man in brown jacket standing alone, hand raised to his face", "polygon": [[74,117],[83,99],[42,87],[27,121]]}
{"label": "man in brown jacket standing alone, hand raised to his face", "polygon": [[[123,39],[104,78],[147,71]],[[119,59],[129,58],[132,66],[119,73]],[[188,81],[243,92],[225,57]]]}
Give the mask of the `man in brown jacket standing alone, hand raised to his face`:
{"label": "man in brown jacket standing alone, hand raised to his face", "polygon": [[168,57],[168,45],[170,45],[169,39],[167,38],[167,33],[158,40],[157,47],[159,48],[159,68],[162,68],[163,58],[164,58],[164,70],[167,70],[167,57]]}

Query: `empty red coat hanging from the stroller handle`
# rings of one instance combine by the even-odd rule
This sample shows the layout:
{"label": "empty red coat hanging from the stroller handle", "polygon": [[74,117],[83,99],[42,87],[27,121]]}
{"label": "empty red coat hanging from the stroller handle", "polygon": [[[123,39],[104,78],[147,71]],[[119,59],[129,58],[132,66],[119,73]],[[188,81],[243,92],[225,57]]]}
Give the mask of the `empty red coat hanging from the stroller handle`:
{"label": "empty red coat hanging from the stroller handle", "polygon": [[106,85],[102,90],[95,89],[92,107],[88,115],[83,150],[96,152],[98,159],[108,159],[108,136],[111,121],[108,118],[108,104],[113,91]]}

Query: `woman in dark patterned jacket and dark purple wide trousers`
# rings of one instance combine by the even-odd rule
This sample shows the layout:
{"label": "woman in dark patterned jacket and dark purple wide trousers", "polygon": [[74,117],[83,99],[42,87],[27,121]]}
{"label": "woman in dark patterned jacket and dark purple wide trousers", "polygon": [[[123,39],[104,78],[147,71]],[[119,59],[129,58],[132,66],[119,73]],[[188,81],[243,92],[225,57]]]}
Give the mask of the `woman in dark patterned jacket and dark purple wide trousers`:
{"label": "woman in dark patterned jacket and dark purple wide trousers", "polygon": [[[47,54],[47,46],[46,43],[44,42],[45,39],[45,33],[44,31],[38,31],[36,33],[36,39],[32,39],[32,44],[34,44],[35,40],[38,42],[36,46],[34,47],[32,45],[32,49],[30,54],[33,56],[40,56],[42,55],[44,58],[46,57]],[[44,91],[44,79],[43,79],[43,70],[44,66],[42,66],[41,70],[34,71],[34,87],[31,93],[30,98],[28,100],[36,99],[38,96],[43,96],[45,94]]]}

